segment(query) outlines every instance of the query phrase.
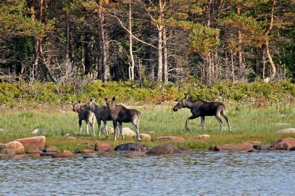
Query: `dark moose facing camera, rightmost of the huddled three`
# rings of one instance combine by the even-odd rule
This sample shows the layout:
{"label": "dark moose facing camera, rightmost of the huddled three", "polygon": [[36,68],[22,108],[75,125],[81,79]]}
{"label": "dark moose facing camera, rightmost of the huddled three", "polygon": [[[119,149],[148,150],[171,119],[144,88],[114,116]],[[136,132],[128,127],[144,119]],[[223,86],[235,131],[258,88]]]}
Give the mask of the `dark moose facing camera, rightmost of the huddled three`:
{"label": "dark moose facing camera, rightmost of the huddled three", "polygon": [[114,125],[114,140],[117,140],[118,128],[120,130],[122,138],[124,139],[122,123],[132,123],[136,130],[137,140],[141,141],[138,130],[141,115],[140,111],[134,109],[127,109],[122,105],[117,105],[114,103],[115,99],[115,97],[113,97],[112,100],[108,100],[108,98],[105,98]]}

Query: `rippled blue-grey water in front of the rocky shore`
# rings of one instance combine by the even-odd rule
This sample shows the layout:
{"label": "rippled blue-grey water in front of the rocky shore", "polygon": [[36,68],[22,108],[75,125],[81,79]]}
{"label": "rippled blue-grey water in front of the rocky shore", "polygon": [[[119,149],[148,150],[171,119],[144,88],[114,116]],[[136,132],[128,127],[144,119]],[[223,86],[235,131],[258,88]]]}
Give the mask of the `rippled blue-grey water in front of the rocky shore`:
{"label": "rippled blue-grey water in front of the rocky shore", "polygon": [[0,196],[293,195],[295,151],[0,159]]}

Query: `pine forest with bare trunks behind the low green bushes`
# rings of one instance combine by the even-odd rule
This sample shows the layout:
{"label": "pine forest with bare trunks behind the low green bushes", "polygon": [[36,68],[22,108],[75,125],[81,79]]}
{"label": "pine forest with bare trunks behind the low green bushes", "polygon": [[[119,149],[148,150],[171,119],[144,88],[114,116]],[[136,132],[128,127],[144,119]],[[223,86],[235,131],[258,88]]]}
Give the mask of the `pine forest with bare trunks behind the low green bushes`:
{"label": "pine forest with bare trunks behind the low green bushes", "polygon": [[0,0],[0,81],[295,78],[295,0]]}

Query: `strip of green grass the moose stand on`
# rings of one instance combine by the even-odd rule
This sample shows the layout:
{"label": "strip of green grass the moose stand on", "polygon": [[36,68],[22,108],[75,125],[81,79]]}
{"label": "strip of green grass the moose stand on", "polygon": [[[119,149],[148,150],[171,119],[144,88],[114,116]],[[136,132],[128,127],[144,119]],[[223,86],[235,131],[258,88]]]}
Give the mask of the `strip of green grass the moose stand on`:
{"label": "strip of green grass the moose stand on", "polygon": [[[164,105],[148,105],[134,107],[141,111],[140,133],[149,134],[152,138],[159,136],[179,136],[186,141],[182,144],[172,142],[174,146],[207,149],[217,144],[231,144],[242,141],[261,141],[263,144],[272,144],[274,141],[285,137],[295,137],[295,134],[278,134],[277,130],[295,127],[295,109],[292,105],[265,106],[254,108],[240,105],[226,104],[227,115],[231,123],[233,133],[228,131],[224,121],[223,133],[219,132],[219,123],[215,117],[206,117],[205,131],[202,131],[201,119],[189,121],[189,131],[184,131],[185,120],[191,113],[189,109],[181,109],[173,112],[175,102],[166,102]],[[132,107],[129,107],[132,108]],[[224,119],[223,119],[224,120]],[[275,123],[288,123],[277,125]],[[112,126],[112,122],[108,122]],[[134,130],[131,123],[124,123]],[[136,142],[133,138],[119,138],[113,141],[113,137],[106,138],[102,133],[101,138],[92,137],[89,126],[89,136],[86,134],[85,122],[83,122],[82,135],[78,135],[78,115],[71,111],[68,105],[65,111],[58,108],[18,108],[0,110],[0,143],[7,143],[15,139],[36,136],[31,132],[36,129],[46,131],[46,146],[57,146],[59,150],[71,151],[89,148],[93,149],[97,142],[109,142],[116,147],[118,144]],[[95,124],[97,133],[97,123]],[[65,134],[72,134],[77,139],[70,139]],[[197,135],[208,134],[207,140],[194,141]],[[148,147],[155,147],[161,143],[155,141],[143,141]]]}

